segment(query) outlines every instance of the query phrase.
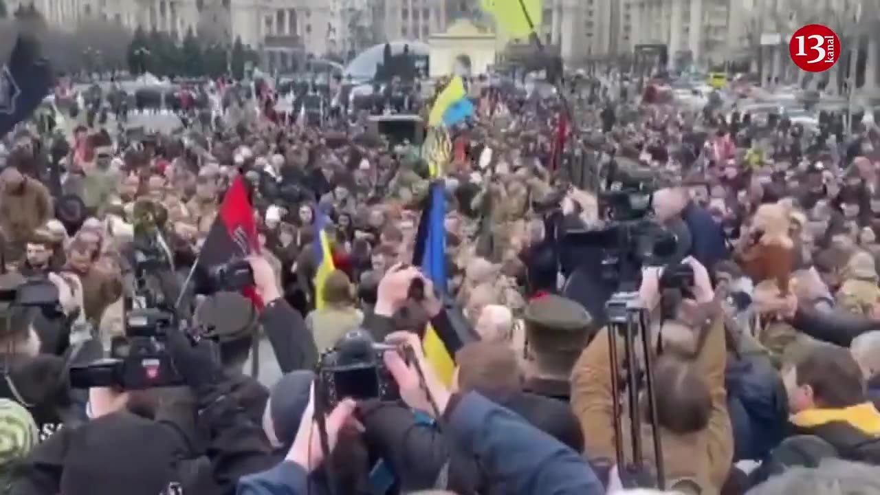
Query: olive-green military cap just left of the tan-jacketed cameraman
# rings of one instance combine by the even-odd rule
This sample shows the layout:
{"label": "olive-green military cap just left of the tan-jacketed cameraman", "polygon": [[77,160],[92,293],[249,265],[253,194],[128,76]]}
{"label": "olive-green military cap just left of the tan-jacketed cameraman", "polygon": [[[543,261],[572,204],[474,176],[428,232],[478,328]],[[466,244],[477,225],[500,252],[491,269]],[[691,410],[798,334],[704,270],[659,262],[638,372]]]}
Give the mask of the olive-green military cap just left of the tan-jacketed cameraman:
{"label": "olive-green military cap just left of the tan-jacketed cameraman", "polygon": [[583,306],[556,294],[532,299],[523,319],[530,344],[547,351],[583,350],[593,321]]}

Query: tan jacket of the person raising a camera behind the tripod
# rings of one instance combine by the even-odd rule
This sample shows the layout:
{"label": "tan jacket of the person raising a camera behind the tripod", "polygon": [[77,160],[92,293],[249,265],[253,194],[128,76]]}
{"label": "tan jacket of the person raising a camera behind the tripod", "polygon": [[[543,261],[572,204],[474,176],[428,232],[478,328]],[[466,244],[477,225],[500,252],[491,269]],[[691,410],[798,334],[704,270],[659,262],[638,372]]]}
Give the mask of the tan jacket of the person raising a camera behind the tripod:
{"label": "tan jacket of the person raising a camera behind the tripod", "polygon": [[[622,339],[618,339],[620,363],[623,362]],[[701,432],[680,435],[661,429],[666,485],[677,480],[693,480],[703,495],[718,493],[727,478],[733,459],[733,436],[724,389],[723,319],[712,324],[703,351],[696,358],[701,376],[706,377],[712,395],[712,414],[708,427]],[[571,375],[571,405],[581,423],[586,452],[590,459],[615,459],[612,414],[611,364],[608,331],[602,329],[578,358]],[[623,404],[625,404],[624,402]],[[646,415],[642,415],[642,418]],[[625,453],[631,458],[629,420],[623,413]],[[642,423],[642,450],[649,462],[654,460],[650,426]]]}

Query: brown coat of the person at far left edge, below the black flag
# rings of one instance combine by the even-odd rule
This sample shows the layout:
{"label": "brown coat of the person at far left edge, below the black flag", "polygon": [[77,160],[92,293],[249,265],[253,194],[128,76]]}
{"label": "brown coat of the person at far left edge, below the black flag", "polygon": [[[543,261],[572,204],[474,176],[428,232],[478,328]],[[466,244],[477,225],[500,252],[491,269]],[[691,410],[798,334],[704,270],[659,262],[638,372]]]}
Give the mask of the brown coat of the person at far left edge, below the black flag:
{"label": "brown coat of the person at far left edge, below the black flag", "polygon": [[4,190],[0,197],[0,228],[11,242],[26,242],[53,215],[52,195],[40,181],[28,179],[20,194]]}

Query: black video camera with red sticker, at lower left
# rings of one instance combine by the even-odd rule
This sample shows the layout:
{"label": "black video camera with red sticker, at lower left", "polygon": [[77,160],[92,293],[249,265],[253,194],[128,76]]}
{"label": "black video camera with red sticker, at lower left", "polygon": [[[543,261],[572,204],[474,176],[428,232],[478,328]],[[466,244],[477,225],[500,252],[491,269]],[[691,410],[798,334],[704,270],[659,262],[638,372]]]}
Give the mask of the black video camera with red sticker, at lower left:
{"label": "black video camera with red sticker, at lower left", "polygon": [[70,367],[72,388],[114,387],[143,390],[184,384],[166,349],[174,316],[154,308],[126,314],[125,336],[114,337],[110,358]]}

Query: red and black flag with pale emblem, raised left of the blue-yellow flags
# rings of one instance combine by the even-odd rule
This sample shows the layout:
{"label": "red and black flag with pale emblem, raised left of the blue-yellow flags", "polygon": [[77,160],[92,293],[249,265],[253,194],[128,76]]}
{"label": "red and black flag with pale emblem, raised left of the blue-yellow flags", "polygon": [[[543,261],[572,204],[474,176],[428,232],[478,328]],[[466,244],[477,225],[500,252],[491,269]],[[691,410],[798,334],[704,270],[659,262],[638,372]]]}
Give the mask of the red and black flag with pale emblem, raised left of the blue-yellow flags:
{"label": "red and black flag with pale emblem, raised left of the blue-yellow flags", "polygon": [[[196,272],[205,280],[209,271],[216,266],[259,253],[260,241],[253,221],[253,208],[245,180],[239,176],[226,191],[214,225],[211,225],[202,245]],[[258,309],[262,308],[263,301],[253,287],[246,287],[242,293]]]}

